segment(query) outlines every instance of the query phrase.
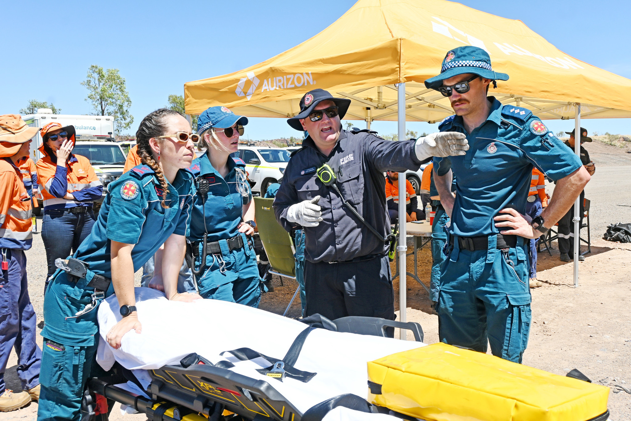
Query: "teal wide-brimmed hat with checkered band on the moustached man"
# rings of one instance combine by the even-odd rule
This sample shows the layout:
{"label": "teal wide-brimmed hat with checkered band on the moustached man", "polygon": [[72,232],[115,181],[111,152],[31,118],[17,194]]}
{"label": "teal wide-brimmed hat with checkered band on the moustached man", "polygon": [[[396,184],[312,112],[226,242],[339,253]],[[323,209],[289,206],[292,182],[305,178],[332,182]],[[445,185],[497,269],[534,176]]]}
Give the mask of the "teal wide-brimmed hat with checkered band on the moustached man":
{"label": "teal wide-brimmed hat with checkered band on the moustached man", "polygon": [[442,81],[458,74],[473,73],[490,80],[509,80],[506,73],[496,73],[491,68],[491,57],[488,52],[480,47],[465,45],[449,50],[442,61],[440,74],[425,80],[425,87],[437,89],[442,86]]}

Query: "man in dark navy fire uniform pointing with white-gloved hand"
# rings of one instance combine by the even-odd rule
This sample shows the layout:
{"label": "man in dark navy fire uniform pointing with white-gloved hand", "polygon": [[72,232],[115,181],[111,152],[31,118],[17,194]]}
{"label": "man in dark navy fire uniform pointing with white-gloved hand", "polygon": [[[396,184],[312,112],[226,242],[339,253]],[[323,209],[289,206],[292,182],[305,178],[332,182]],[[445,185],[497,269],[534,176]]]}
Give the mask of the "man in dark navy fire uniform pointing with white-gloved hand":
{"label": "man in dark navy fire uniform pointing with white-gloved hand", "polygon": [[322,89],[300,99],[300,113],[287,122],[309,136],[292,153],[274,213],[288,232],[304,227],[306,316],[393,320],[383,173],[418,170],[432,155],[458,155],[468,146],[461,133],[392,142],[342,130],[349,105]]}

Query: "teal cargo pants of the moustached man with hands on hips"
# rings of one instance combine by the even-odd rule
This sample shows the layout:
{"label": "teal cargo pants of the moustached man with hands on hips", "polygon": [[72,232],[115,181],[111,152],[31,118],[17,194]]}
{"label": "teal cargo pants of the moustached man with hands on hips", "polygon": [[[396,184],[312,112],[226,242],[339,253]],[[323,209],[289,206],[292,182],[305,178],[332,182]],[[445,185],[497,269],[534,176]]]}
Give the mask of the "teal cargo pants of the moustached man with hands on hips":
{"label": "teal cargo pants of the moustached man with hands on hips", "polygon": [[487,250],[450,246],[440,272],[437,311],[440,341],[520,362],[531,323],[528,254],[523,237],[517,247]]}

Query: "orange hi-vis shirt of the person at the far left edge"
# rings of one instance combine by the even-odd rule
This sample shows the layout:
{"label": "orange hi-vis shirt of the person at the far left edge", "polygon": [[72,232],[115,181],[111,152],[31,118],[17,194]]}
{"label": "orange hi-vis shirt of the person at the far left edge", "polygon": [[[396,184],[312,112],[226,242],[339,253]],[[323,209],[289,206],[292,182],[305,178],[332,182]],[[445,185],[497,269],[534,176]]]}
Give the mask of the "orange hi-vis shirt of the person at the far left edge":
{"label": "orange hi-vis shirt of the person at the far left edge", "polygon": [[9,158],[0,158],[0,191],[0,248],[28,250],[33,243],[31,198]]}

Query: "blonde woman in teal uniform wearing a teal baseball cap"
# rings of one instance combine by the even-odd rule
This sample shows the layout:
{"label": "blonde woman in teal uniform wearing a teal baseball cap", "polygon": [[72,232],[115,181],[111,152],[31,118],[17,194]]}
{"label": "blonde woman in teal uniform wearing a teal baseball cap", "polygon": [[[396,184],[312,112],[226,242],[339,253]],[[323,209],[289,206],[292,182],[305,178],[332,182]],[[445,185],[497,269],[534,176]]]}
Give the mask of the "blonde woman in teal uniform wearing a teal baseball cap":
{"label": "blonde woman in teal uniform wearing a teal baseball cap", "polygon": [[198,119],[206,153],[193,161],[197,194],[191,217],[193,274],[204,298],[258,307],[261,277],[250,235],[254,206],[244,163],[230,157],[238,150],[247,117],[226,107],[211,107]]}

